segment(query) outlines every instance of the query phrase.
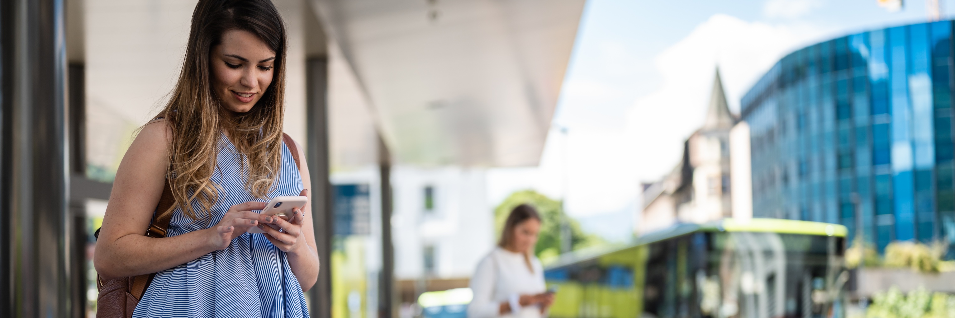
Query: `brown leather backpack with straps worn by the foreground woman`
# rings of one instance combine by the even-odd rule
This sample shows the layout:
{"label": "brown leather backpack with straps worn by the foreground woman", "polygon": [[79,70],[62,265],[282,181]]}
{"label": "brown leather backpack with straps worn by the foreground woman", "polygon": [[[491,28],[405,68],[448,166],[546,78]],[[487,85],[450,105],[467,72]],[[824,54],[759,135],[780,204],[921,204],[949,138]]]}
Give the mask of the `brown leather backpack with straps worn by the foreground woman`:
{"label": "brown leather backpack with straps worn by the foreground woman", "polygon": [[[292,153],[292,159],[295,159],[295,166],[301,170],[299,163],[298,147],[295,141],[282,134],[282,140],[285,141],[289,152]],[[166,237],[166,229],[169,228],[169,221],[172,220],[172,213],[159,218],[160,211],[166,211],[176,199],[173,198],[172,188],[169,186],[169,180],[166,180],[162,187],[162,197],[159,197],[159,204],[156,206],[156,213],[153,214],[153,220],[146,229],[146,236],[151,238]],[[96,237],[99,237],[99,230],[96,230]],[[132,318],[133,309],[139,304],[142,295],[146,293],[146,287],[156,277],[156,273],[143,274],[131,277],[120,277],[109,281],[104,281],[99,274],[96,274],[96,287],[99,289],[99,295],[96,296],[96,318]]]}

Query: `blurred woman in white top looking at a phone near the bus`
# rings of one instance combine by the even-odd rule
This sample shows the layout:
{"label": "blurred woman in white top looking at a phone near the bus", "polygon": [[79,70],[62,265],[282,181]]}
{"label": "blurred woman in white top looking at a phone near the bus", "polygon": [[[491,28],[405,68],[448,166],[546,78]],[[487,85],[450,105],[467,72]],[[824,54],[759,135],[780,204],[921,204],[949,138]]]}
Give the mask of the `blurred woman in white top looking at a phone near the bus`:
{"label": "blurred woman in white top looking at a phone near the bus", "polygon": [[546,292],[541,261],[534,245],[541,230],[541,216],[534,207],[520,204],[511,211],[500,233],[500,242],[477,264],[471,278],[474,299],[468,318],[540,318],[554,302]]}

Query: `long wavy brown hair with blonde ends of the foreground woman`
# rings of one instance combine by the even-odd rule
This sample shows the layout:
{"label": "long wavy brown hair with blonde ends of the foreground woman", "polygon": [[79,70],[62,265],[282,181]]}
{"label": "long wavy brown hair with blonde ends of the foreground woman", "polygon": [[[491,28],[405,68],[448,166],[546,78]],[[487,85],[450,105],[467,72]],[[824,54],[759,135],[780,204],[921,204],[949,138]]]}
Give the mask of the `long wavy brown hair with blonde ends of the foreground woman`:
{"label": "long wavy brown hair with blonde ends of the foreground woman", "polygon": [[[255,106],[233,114],[214,92],[210,53],[224,32],[241,30],[258,36],[275,53],[272,82]],[[159,117],[172,130],[169,179],[176,205],[192,220],[203,216],[218,200],[218,185],[210,178],[226,133],[244,161],[245,188],[264,199],[281,167],[282,121],[285,114],[286,28],[269,0],[200,0],[192,13],[185,60],[176,88]],[[204,214],[204,213],[203,213]]]}

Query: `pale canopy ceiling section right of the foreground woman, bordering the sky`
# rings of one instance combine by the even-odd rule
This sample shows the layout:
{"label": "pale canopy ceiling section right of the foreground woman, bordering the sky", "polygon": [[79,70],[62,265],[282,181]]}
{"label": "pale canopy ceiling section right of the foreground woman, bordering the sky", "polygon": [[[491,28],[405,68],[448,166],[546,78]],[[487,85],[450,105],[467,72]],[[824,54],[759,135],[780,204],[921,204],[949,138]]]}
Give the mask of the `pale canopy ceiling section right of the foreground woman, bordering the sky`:
{"label": "pale canopy ceiling section right of the foreground woman, bordering the sky", "polygon": [[538,163],[584,0],[310,1],[398,163]]}

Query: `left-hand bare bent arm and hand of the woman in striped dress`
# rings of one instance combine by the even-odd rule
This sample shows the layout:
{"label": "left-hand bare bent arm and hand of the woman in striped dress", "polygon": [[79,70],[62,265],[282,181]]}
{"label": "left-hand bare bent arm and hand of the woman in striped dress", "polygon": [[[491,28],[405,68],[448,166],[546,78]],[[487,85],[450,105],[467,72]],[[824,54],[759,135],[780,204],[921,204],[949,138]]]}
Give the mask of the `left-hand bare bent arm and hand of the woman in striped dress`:
{"label": "left-hand bare bent arm and hand of the woman in striped dress", "polygon": [[96,272],[104,279],[185,264],[228,246],[245,228],[266,221],[265,216],[250,211],[262,209],[265,203],[246,202],[233,206],[229,218],[223,218],[218,226],[169,238],[145,236],[165,184],[170,139],[165,120],[149,123],[119,163],[93,260]]}

